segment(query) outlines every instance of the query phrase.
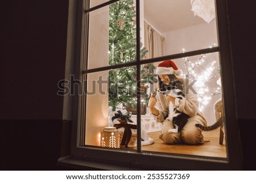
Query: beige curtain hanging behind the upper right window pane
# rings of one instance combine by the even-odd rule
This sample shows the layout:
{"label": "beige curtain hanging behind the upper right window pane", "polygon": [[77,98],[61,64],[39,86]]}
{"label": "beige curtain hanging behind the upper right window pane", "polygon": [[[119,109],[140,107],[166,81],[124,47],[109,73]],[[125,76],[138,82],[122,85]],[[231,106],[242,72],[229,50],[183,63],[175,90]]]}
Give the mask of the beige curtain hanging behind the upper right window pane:
{"label": "beige curtain hanging behind the upper right window pane", "polygon": [[144,22],[144,46],[148,50],[146,58],[163,56],[163,41],[161,36],[150,24]]}

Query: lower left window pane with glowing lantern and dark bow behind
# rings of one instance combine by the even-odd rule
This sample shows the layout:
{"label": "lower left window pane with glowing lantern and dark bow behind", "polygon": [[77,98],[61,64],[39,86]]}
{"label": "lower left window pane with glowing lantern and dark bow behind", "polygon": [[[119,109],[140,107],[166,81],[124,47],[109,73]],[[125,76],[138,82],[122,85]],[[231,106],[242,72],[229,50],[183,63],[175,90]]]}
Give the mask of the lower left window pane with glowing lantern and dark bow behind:
{"label": "lower left window pane with glowing lantern and dark bow behind", "polygon": [[[115,147],[135,149],[137,121],[133,120],[130,117],[131,114],[125,110],[128,105],[134,107],[137,103],[135,67],[90,73],[87,80],[85,145],[109,147],[110,144],[106,144],[106,142],[109,142],[109,137],[114,131],[106,132],[105,130],[109,129],[106,127],[114,126],[118,129],[117,133],[119,134],[119,139],[114,141]],[[127,123],[123,123],[125,121]],[[127,143],[122,143],[123,137],[127,138],[124,135],[126,125],[127,129],[131,131],[131,139]],[[108,136],[109,133],[110,136]],[[107,140],[106,136],[108,136]],[[103,138],[106,140],[105,143]]]}

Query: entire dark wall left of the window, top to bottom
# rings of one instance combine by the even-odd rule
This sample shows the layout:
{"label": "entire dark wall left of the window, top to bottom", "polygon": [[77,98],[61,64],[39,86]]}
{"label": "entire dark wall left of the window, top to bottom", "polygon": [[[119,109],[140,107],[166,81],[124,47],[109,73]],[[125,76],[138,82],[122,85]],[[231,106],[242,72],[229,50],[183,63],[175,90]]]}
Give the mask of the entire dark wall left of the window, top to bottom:
{"label": "entire dark wall left of the window, top to bottom", "polygon": [[[52,170],[60,156],[68,0],[1,2],[0,169]],[[2,10],[1,10],[2,11]]]}

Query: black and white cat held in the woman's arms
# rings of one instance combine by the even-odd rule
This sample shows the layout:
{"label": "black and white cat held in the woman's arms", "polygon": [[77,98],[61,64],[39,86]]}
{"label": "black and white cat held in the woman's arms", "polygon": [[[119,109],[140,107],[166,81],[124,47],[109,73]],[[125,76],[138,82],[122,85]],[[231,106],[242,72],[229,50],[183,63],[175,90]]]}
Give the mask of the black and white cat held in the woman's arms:
{"label": "black and white cat held in the woman's arms", "polygon": [[[162,94],[172,96],[174,98],[185,99],[185,94],[183,91],[183,82],[176,80],[171,83],[171,86],[167,86],[164,90],[160,90]],[[167,119],[172,121],[174,124],[174,129],[168,130],[169,133],[178,133],[185,126],[190,116],[186,115],[184,112],[177,110],[176,106],[170,101],[169,103],[169,113]]]}

